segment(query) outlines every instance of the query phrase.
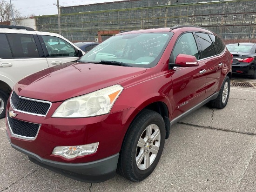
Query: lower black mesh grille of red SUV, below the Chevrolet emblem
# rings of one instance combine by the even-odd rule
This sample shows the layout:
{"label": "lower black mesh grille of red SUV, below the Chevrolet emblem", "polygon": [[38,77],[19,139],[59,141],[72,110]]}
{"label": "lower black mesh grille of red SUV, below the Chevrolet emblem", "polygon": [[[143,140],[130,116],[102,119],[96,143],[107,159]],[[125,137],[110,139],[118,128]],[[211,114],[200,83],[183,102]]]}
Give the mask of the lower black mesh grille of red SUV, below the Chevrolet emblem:
{"label": "lower black mesh grille of red SUV, below the Chevrolet emblem", "polygon": [[8,115],[8,124],[14,135],[25,137],[25,139],[34,139],[39,131],[40,124],[29,123],[18,119],[10,118]]}

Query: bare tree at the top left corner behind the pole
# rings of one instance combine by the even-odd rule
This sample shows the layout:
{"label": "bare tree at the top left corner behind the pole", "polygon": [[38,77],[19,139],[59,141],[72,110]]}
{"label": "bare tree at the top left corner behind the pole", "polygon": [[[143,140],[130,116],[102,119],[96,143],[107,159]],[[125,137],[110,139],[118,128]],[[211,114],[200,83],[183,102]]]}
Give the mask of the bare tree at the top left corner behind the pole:
{"label": "bare tree at the top left corner behind the pole", "polygon": [[[13,5],[12,5],[13,6]],[[13,6],[14,18],[20,17],[20,12]],[[12,9],[11,4],[7,1],[0,0],[0,21],[11,21],[12,20]]]}

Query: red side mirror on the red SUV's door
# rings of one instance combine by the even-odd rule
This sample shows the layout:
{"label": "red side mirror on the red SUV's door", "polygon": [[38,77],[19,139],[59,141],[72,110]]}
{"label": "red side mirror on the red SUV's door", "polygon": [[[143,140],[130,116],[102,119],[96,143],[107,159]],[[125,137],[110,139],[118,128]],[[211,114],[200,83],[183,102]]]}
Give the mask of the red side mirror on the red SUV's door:
{"label": "red side mirror on the red SUV's door", "polygon": [[176,57],[175,63],[169,63],[169,67],[174,66],[198,66],[198,62],[195,56],[193,55],[186,55],[186,54],[178,54]]}

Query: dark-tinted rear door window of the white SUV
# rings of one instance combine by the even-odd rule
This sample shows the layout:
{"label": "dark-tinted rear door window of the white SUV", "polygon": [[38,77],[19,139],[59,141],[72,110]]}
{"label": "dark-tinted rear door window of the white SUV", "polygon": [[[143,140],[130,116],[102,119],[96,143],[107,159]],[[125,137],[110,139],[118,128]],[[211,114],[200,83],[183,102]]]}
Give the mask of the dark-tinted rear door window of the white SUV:
{"label": "dark-tinted rear door window of the white SUV", "polygon": [[39,57],[34,36],[32,34],[7,33],[13,52],[13,58]]}

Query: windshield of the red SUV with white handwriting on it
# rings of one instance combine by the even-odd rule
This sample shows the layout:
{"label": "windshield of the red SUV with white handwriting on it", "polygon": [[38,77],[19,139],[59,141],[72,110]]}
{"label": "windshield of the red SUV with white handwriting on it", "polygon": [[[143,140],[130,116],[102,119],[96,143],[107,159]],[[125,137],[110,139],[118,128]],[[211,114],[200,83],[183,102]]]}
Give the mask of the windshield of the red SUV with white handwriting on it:
{"label": "windshield of the red SUV with white handwriting on it", "polygon": [[119,62],[123,66],[153,67],[160,60],[172,36],[172,32],[115,35],[94,47],[80,61],[104,62],[109,65]]}

